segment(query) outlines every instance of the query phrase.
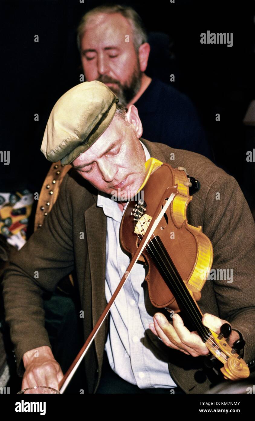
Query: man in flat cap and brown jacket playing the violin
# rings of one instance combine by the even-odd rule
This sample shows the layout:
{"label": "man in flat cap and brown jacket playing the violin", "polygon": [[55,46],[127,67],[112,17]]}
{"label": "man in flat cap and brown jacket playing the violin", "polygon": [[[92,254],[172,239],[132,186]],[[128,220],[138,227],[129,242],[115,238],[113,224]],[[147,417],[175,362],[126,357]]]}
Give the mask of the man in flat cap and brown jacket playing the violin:
{"label": "man in flat cap and brown jacket playing the violin", "polygon": [[[231,324],[228,343],[242,336],[243,359],[254,358],[255,230],[242,191],[202,155],[141,136],[136,107],[126,111],[98,81],[77,85],[53,107],[41,150],[48,160],[71,163],[73,169],[44,224],[16,254],[3,281],[22,388],[58,389],[63,377],[44,327],[42,292],[53,291],[75,269],[87,338],[121,280],[129,264],[118,237],[126,202],[111,196],[137,192],[150,157],[180,171],[187,168],[200,181],[188,205],[188,222],[201,225],[212,242],[213,269],[233,269],[232,282],[205,282],[199,301],[202,322],[216,333]],[[204,364],[208,348],[181,315],[168,317],[152,306],[144,280],[145,267],[137,263],[86,354],[89,393],[206,392],[212,384]]]}

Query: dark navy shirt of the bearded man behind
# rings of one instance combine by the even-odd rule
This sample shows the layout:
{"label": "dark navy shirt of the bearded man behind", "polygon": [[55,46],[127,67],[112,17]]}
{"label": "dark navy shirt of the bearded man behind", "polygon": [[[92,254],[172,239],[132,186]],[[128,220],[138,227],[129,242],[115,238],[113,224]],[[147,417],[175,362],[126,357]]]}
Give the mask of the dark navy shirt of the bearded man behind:
{"label": "dark navy shirt of the bearded man behind", "polygon": [[190,99],[158,79],[134,104],[142,121],[142,138],[197,152],[213,161],[197,111]]}

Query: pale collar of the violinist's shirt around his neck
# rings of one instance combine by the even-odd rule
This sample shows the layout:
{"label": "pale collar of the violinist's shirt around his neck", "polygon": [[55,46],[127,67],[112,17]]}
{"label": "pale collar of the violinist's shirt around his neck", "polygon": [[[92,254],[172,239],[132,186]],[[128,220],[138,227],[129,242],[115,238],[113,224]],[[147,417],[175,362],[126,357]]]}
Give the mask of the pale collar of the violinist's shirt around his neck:
{"label": "pale collar of the violinist's shirt around his neck", "polygon": [[[145,160],[147,161],[150,159],[150,153],[147,149],[147,147],[140,141],[143,150],[145,151]],[[107,195],[106,193],[99,192],[97,194],[97,206],[99,208],[103,208],[103,213],[108,216],[109,218],[113,218],[117,222],[121,222],[122,216],[124,214],[124,211],[129,204],[126,203],[123,212],[121,212],[120,208],[118,207],[118,203],[114,200],[111,200],[111,196]]]}

